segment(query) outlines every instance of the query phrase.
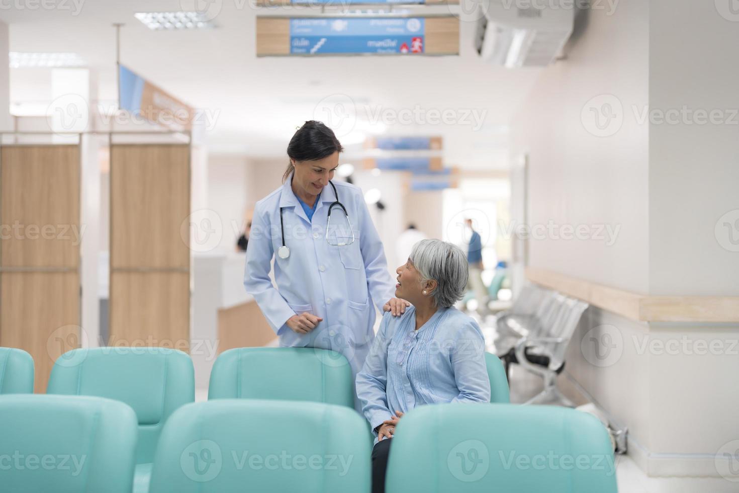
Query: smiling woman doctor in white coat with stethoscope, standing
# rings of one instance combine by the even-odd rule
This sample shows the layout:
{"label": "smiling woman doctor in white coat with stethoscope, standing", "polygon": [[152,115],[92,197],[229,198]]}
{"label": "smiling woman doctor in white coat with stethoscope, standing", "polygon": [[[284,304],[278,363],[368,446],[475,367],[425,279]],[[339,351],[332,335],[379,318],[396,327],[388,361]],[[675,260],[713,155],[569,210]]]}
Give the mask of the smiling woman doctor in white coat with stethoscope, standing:
{"label": "smiling woman doctor in white coat with stethoscope, standing", "polygon": [[295,132],[283,185],[256,203],[244,285],[281,347],[338,351],[355,377],[375,337],[375,306],[400,316],[409,303],[395,298],[361,190],[332,181],[343,150],[321,122]]}

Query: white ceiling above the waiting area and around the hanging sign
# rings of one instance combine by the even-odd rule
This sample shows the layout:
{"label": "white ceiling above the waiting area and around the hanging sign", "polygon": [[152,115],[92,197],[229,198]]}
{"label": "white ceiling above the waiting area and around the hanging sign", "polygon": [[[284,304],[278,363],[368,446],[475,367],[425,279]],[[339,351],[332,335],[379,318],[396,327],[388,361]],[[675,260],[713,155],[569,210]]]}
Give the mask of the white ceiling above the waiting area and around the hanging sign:
{"label": "white ceiling above the waiting area and around the hanging sign", "polygon": [[[539,73],[480,61],[472,42],[475,24],[468,16],[460,21],[459,56],[256,58],[256,13],[280,11],[259,10],[246,0],[210,0],[219,27],[185,31],[152,31],[133,14],[187,9],[192,0],[47,1],[56,1],[58,8],[0,10],[0,19],[10,24],[11,51],[77,52],[98,78],[99,99],[113,101],[112,24],[125,23],[122,63],[191,106],[205,109],[211,152],[279,157],[296,126],[316,118],[341,127],[340,138],[348,142],[371,132],[443,135],[447,165],[499,168],[505,166],[508,120]],[[449,8],[458,7],[421,10],[449,13]],[[292,11],[299,12],[283,10]],[[11,101],[48,100],[50,70],[11,69]],[[333,121],[324,108],[333,110]],[[387,120],[392,115],[432,118],[434,111],[449,109],[459,123],[422,124],[416,117],[412,124]],[[395,113],[399,110],[404,112]],[[341,120],[341,115],[349,118]],[[475,123],[472,115],[482,122]],[[390,124],[372,124],[378,117]]]}

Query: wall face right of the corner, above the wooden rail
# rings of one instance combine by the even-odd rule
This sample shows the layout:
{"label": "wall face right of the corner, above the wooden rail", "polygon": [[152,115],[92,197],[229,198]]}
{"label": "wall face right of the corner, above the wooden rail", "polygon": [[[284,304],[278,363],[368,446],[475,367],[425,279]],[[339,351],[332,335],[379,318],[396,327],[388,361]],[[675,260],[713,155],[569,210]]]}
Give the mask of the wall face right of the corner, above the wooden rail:
{"label": "wall face right of the corner, above the wooden rail", "polygon": [[650,111],[723,114],[718,124],[690,116],[650,124],[653,294],[739,295],[739,16],[718,10],[730,3],[652,2]]}

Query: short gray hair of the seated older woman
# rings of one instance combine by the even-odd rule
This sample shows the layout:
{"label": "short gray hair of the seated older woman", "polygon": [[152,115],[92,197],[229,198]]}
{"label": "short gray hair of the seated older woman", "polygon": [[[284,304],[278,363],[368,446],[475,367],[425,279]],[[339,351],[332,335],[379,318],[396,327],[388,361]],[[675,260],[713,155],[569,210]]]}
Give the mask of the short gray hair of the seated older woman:
{"label": "short gray hair of the seated older woman", "polygon": [[461,248],[440,239],[422,239],[413,245],[409,259],[420,274],[421,282],[430,279],[437,282],[432,293],[437,307],[451,307],[462,299],[469,268]]}

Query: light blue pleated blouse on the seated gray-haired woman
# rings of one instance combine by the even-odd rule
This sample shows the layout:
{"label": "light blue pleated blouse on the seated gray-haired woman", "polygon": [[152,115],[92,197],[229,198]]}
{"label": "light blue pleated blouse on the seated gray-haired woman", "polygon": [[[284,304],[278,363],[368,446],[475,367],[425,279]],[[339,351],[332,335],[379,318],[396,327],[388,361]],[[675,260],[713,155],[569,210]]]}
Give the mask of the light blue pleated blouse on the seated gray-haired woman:
{"label": "light blue pleated blouse on the seated gray-haired woman", "polygon": [[356,384],[373,432],[396,411],[423,404],[489,402],[483,333],[454,307],[418,330],[413,307],[400,317],[385,312]]}

